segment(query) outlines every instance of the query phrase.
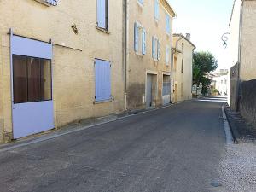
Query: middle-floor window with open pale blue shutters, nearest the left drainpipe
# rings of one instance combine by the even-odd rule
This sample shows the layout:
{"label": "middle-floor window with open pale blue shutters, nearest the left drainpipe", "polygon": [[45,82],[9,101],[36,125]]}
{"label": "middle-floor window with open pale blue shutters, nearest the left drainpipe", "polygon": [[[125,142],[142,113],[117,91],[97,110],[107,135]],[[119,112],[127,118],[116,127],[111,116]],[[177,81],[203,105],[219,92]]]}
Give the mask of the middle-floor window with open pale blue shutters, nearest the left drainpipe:
{"label": "middle-floor window with open pale blue shutters, nearest the left drainpipe", "polygon": [[134,24],[134,50],[138,54],[146,54],[146,30],[141,24]]}

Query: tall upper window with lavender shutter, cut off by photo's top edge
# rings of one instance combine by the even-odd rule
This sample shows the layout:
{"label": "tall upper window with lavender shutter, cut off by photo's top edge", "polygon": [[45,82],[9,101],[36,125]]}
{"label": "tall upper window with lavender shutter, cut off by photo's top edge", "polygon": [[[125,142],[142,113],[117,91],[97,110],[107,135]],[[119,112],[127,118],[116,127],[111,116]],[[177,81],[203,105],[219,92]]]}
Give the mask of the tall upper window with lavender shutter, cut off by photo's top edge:
{"label": "tall upper window with lavender shutter, cut off by photo's top edge", "polygon": [[108,0],[97,0],[97,26],[108,30]]}

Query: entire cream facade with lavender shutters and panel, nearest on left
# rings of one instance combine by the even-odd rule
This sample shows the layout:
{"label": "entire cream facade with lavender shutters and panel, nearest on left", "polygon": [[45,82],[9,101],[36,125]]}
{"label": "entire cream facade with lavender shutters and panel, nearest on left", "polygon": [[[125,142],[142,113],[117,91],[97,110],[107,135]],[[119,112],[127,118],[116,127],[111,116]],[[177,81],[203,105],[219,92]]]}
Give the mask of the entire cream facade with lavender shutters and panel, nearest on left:
{"label": "entire cream facade with lavender shutters and panel, nearest on left", "polygon": [[123,1],[0,2],[0,143],[125,110]]}

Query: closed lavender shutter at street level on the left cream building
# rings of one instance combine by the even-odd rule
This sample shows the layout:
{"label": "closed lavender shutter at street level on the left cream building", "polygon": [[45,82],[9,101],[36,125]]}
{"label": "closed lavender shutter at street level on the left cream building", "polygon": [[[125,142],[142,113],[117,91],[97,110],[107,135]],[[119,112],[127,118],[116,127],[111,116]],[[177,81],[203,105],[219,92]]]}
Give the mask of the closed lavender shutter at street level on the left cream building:
{"label": "closed lavender shutter at street level on the left cream building", "polygon": [[95,62],[96,102],[111,99],[111,65],[109,61]]}

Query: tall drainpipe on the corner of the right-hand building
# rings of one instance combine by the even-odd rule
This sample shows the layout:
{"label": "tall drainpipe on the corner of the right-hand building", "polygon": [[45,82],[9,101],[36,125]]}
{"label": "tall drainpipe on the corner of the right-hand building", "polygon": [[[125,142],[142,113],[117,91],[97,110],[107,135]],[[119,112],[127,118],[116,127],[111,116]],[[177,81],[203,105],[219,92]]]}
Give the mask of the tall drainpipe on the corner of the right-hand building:
{"label": "tall drainpipe on the corner of the right-hand building", "polygon": [[237,65],[237,86],[236,86],[236,111],[239,111],[240,101],[241,101],[241,79],[240,79],[240,70],[241,70],[241,32],[242,32],[242,19],[243,19],[243,2],[241,0],[240,8],[240,21],[239,21],[239,40],[238,40],[238,65]]}

